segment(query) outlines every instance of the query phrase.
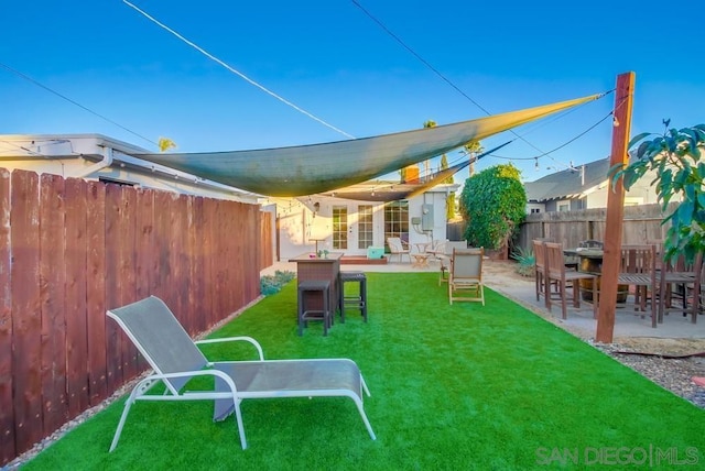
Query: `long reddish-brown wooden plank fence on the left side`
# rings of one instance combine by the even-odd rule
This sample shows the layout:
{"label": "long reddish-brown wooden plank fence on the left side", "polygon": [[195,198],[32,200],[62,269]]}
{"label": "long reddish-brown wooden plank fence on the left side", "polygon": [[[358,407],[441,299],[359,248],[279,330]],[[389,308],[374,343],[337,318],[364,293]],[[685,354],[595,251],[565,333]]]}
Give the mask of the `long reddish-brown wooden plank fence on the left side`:
{"label": "long reddish-brown wooden plank fence on the left side", "polygon": [[256,299],[264,219],[257,205],[0,169],[0,465],[147,368],[106,309],[155,295],[194,336]]}

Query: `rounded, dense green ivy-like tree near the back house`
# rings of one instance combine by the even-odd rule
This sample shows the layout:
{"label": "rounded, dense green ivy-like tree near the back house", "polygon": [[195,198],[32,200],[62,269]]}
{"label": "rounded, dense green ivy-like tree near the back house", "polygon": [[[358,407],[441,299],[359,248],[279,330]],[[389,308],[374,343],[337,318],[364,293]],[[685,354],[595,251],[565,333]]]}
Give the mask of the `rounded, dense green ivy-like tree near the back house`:
{"label": "rounded, dense green ivy-like tree near the back house", "polygon": [[467,221],[465,239],[475,247],[497,250],[508,245],[524,219],[527,193],[512,164],[496,165],[471,176],[460,194],[460,213]]}

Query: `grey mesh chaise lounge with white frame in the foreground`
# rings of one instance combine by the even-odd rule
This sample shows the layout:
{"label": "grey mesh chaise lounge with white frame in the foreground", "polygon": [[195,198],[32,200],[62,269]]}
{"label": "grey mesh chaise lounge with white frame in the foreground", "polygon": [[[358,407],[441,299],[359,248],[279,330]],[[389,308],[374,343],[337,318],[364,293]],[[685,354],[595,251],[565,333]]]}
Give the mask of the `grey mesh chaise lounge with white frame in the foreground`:
{"label": "grey mesh chaise lounge with white frame in the foreground", "polygon": [[[247,448],[240,403],[248,398],[337,396],[351,398],[372,440],[376,439],[365,409],[362,391],[369,391],[352,360],[264,360],[262,348],[250,337],[194,342],[169,307],[150,296],[124,307],[108,310],[154,370],[140,380],[124,403],[122,416],[110,445],[112,451],[135,401],[214,401],[214,420],[224,420],[235,412],[240,443]],[[259,360],[209,362],[197,343],[246,341],[258,351]],[[215,387],[185,391],[196,376],[214,377]],[[149,394],[163,383],[164,394]],[[184,390],[184,391],[182,391]]]}

